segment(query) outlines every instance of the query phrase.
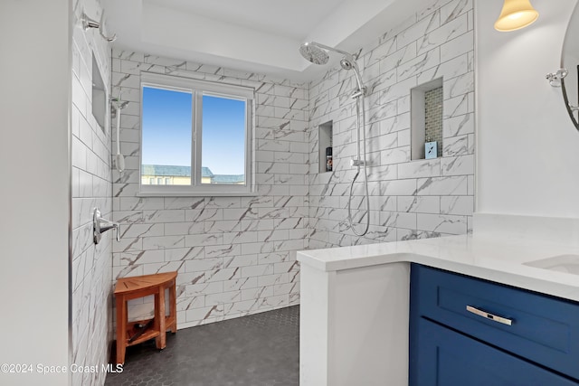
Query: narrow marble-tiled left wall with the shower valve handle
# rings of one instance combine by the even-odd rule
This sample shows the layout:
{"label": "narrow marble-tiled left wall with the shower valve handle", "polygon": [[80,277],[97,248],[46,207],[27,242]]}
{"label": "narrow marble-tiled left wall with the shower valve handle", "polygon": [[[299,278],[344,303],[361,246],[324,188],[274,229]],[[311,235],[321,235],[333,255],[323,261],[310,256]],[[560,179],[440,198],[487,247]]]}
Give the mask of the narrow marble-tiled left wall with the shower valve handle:
{"label": "narrow marble-tiled left wall with the shower valve handle", "polygon": [[[98,0],[77,0],[77,20],[84,9],[100,20]],[[98,31],[75,25],[72,37],[72,363],[99,366],[109,359],[112,250],[110,235],[92,242],[92,211],[112,216],[110,128],[92,116],[92,53],[105,84],[110,79],[110,51]],[[109,87],[109,86],[107,86]],[[72,373],[74,385],[101,385],[105,373]]]}

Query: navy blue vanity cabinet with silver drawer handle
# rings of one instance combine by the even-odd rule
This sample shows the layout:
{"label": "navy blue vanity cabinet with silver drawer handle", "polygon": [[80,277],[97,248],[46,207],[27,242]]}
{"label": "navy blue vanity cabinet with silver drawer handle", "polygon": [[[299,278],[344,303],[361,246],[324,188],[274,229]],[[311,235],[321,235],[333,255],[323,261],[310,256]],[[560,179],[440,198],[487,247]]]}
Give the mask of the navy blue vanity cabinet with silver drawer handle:
{"label": "navy blue vanity cabinet with silver drawer handle", "polygon": [[410,385],[579,385],[579,305],[413,264]]}

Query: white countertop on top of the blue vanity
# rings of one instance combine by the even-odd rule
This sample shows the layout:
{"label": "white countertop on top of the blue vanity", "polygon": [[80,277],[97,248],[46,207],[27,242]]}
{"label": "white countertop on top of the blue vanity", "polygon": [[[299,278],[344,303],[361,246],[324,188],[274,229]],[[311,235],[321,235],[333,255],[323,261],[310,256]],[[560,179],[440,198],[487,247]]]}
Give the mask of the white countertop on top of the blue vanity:
{"label": "white countertop on top of the blue vanity", "polygon": [[566,254],[579,255],[579,248],[546,241],[460,235],[302,250],[298,252],[298,260],[322,271],[414,262],[579,301],[579,275],[523,265]]}

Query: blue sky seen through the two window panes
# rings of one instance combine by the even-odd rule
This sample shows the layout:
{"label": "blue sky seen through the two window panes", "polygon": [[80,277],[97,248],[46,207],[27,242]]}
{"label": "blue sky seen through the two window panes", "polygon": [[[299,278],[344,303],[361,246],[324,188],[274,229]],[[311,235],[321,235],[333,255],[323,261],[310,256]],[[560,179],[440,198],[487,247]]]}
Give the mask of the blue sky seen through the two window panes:
{"label": "blue sky seen through the two window panes", "polygon": [[[191,166],[190,92],[143,87],[143,165]],[[213,174],[245,172],[246,102],[204,95],[202,165]]]}

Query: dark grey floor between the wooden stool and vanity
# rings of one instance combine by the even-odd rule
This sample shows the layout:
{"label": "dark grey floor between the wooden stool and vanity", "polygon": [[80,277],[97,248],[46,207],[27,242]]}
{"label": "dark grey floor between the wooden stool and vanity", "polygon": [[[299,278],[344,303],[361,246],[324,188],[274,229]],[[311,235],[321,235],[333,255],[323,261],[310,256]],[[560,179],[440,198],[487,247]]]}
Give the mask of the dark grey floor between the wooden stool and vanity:
{"label": "dark grey floor between the wooden stool and vanity", "polygon": [[200,325],[129,347],[105,386],[299,384],[299,306]]}

